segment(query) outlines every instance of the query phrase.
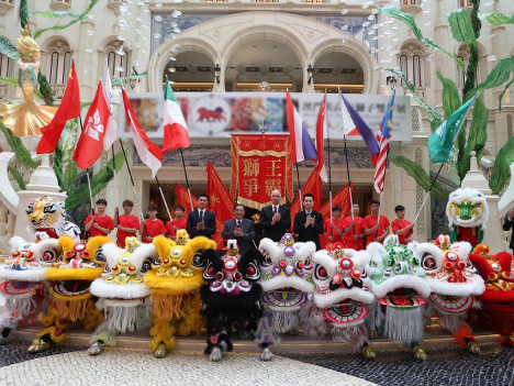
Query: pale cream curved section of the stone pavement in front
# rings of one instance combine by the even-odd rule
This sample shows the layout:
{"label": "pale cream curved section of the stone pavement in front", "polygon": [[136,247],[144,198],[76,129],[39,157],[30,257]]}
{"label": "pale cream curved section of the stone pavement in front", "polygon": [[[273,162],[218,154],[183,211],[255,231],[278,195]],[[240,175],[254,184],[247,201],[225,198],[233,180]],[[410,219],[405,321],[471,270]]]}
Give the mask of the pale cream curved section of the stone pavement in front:
{"label": "pale cream curved section of the stone pavement in front", "polygon": [[[4,350],[4,349],[3,349]],[[2,353],[3,354],[3,353]],[[0,368],[0,385],[31,386],[368,386],[370,382],[333,370],[276,356],[261,362],[255,353],[230,353],[211,363],[200,352],[174,352],[156,360],[148,351],[105,350],[98,356],[70,351]]]}

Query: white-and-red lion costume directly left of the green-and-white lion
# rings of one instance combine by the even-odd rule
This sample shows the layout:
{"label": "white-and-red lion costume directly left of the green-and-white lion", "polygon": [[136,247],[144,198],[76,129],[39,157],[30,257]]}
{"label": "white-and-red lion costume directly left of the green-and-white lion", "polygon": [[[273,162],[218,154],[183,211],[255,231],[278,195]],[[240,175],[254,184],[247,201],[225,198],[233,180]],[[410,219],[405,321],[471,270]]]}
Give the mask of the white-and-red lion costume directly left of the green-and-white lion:
{"label": "white-and-red lion costume directly left of the green-and-white lion", "polygon": [[335,243],[329,252],[314,253],[313,279],[314,304],[322,310],[315,312],[315,322],[328,321],[334,341],[348,343],[362,356],[372,359],[375,350],[365,326],[369,312],[366,305],[376,301],[365,273],[369,260],[366,251],[345,250],[342,243]]}

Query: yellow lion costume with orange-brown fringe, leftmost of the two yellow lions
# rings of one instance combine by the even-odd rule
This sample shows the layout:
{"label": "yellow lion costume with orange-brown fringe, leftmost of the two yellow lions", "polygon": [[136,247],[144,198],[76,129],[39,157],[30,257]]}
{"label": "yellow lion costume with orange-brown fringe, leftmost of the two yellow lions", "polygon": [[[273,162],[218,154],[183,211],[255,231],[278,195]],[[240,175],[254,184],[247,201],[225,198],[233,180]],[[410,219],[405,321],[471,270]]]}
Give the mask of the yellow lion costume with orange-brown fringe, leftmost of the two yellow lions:
{"label": "yellow lion costume with orange-brown fringe, leftmost of the two yellow lions", "polygon": [[51,282],[53,300],[43,318],[45,329],[29,348],[32,353],[65,341],[67,331],[76,326],[91,330],[103,321],[103,312],[94,308],[90,286],[103,272],[105,257],[102,245],[111,240],[94,236],[87,244],[75,244],[70,236],[65,235],[58,242],[63,254],[45,273],[45,278]]}

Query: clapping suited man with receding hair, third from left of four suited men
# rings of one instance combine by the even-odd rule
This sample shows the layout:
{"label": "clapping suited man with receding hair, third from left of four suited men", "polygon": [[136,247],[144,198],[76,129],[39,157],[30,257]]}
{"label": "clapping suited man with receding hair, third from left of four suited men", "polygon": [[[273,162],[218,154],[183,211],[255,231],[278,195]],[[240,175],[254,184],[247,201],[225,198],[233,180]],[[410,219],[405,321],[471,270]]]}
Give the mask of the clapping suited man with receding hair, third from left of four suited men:
{"label": "clapping suited man with receding hair, third from left of four suited men", "polygon": [[291,212],[280,205],[280,190],[271,191],[271,205],[260,210],[260,225],[265,238],[279,242],[291,228]]}

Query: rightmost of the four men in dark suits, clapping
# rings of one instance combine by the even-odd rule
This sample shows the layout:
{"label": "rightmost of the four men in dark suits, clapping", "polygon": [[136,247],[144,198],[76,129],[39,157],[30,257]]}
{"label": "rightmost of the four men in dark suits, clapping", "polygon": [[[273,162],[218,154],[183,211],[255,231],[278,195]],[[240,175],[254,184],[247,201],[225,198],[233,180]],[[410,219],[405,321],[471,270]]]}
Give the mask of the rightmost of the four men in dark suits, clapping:
{"label": "rightmost of the four men in dark suits, clapping", "polygon": [[298,234],[298,241],[312,241],[316,244],[316,251],[320,251],[320,234],[324,232],[323,217],[312,207],[314,207],[314,196],[306,194],[303,196],[303,210],[294,216],[293,232]]}

